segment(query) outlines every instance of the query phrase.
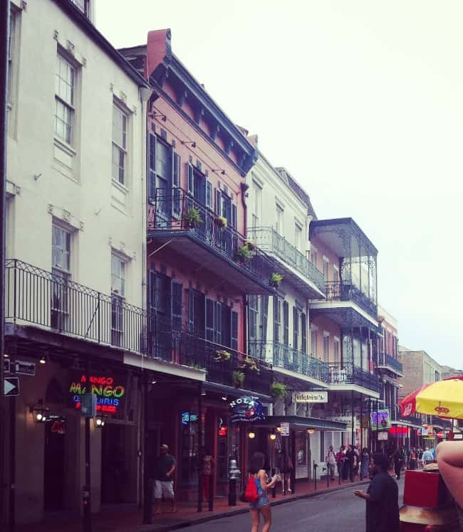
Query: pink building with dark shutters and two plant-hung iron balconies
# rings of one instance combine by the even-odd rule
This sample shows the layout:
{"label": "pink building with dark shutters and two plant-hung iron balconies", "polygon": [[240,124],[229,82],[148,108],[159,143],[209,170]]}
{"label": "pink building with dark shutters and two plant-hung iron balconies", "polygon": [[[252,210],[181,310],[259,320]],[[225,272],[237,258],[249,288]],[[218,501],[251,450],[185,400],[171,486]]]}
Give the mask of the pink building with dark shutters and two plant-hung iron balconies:
{"label": "pink building with dark shutters and two plant-hung iron balconies", "polygon": [[[273,263],[246,242],[246,184],[255,148],[172,53],[170,30],[121,50],[152,86],[148,115],[148,350],[172,366],[152,397],[152,445],[178,460],[180,497],[194,489],[199,447],[227,489],[229,458],[245,463],[246,424],[230,422],[242,395],[270,401],[271,367],[246,358],[246,294],[274,294]],[[206,372],[200,388],[175,366]],[[241,379],[241,381],[240,381]],[[242,380],[244,379],[244,381]],[[237,388],[240,388],[239,390]]]}

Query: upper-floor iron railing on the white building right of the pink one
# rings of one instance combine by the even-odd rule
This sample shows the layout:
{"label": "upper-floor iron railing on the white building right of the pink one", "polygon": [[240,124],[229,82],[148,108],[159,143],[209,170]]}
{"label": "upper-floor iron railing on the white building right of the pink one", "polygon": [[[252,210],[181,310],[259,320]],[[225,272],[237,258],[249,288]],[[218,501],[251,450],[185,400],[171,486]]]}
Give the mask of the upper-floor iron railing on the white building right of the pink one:
{"label": "upper-floor iron railing on the white building right of the pink one", "polygon": [[271,227],[253,227],[248,229],[248,235],[261,250],[269,251],[291,265],[303,277],[310,280],[323,292],[325,287],[325,278],[323,273],[307,260],[297,248],[286,240],[283,236]]}

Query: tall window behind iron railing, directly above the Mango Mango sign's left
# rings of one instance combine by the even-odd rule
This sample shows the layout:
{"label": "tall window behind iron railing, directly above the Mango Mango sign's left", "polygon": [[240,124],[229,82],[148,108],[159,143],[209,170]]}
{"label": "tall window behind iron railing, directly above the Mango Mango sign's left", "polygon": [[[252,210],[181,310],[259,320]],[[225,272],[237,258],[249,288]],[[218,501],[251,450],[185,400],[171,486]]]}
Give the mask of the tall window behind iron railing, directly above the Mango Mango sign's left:
{"label": "tall window behind iron railing, directly above the Mango Mango sign's left", "polygon": [[51,238],[51,327],[66,329],[68,310],[68,280],[71,279],[71,233],[52,226]]}

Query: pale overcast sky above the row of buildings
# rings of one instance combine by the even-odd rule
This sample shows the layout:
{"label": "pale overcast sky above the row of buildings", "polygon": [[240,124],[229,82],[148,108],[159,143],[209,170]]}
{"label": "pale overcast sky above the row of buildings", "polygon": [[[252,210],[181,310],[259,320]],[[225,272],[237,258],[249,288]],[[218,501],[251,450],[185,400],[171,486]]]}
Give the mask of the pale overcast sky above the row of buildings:
{"label": "pale overcast sky above the row of buildings", "polygon": [[[96,0],[114,46],[172,50],[318,218],[379,250],[400,344],[463,365],[461,0]],[[283,9],[282,9],[283,8]]]}

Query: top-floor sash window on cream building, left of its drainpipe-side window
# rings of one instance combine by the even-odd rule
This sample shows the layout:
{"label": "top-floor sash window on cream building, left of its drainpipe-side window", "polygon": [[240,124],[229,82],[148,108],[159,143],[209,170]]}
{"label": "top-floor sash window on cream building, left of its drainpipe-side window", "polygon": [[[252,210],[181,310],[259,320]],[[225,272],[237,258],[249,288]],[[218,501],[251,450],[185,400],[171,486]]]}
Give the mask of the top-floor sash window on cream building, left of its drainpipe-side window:
{"label": "top-floor sash window on cream building, left of its drainpipe-side window", "polygon": [[62,55],[56,56],[55,134],[73,144],[76,69]]}

